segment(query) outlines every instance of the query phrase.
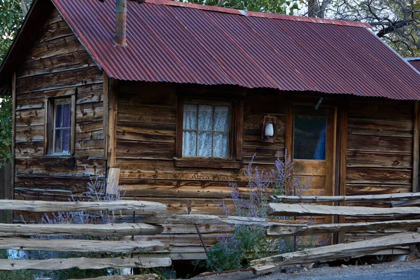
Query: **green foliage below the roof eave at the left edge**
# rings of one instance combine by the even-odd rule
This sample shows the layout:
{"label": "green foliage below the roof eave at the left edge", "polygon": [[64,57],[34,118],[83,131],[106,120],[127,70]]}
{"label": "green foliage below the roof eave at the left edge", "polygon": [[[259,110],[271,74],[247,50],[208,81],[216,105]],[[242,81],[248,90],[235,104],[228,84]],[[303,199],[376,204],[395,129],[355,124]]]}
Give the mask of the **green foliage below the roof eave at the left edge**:
{"label": "green foliage below the roof eave at the left edge", "polygon": [[12,99],[0,97],[0,168],[12,159]]}

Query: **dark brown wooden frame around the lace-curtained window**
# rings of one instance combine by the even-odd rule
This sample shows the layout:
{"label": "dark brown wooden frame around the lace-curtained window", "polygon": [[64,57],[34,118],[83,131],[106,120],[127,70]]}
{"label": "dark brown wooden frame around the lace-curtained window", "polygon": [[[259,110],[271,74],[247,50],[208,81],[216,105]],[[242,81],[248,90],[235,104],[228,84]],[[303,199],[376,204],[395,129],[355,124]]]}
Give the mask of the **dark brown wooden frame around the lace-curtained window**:
{"label": "dark brown wooden frame around the lace-curtained window", "polygon": [[[207,158],[199,156],[183,156],[183,106],[184,104],[209,104],[212,106],[230,104],[230,131],[227,158]],[[177,96],[176,108],[176,167],[207,168],[241,168],[242,158],[242,126],[244,119],[244,102],[242,99],[211,99],[203,97]]]}

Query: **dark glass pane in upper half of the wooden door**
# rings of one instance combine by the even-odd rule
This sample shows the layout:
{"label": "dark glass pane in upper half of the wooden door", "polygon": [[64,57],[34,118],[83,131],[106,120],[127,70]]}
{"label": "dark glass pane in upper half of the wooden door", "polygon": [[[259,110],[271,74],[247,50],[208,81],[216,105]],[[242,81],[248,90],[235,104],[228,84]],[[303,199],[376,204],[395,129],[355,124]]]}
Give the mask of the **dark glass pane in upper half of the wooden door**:
{"label": "dark glass pane in upper half of the wooden door", "polygon": [[326,111],[322,109],[307,113],[295,111],[294,123],[293,158],[325,160]]}

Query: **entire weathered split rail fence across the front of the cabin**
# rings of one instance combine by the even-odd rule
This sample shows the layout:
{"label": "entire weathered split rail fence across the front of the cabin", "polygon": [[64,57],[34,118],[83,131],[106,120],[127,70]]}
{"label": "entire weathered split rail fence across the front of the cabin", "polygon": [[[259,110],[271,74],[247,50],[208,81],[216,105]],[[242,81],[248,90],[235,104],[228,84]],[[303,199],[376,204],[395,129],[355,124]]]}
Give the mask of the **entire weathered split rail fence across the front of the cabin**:
{"label": "entire weathered split rail fence across the front of the cabin", "polygon": [[[45,224],[0,224],[0,249],[45,250],[45,251],[93,251],[109,253],[135,253],[131,258],[67,258],[50,260],[0,260],[0,269],[65,269],[165,267],[171,265],[170,258],[148,257],[148,253],[165,251],[160,241],[126,240],[138,235],[160,235],[162,225],[260,225],[266,228],[269,237],[294,235],[319,235],[335,232],[398,232],[350,244],[335,244],[283,253],[251,261],[255,274],[265,274],[286,267],[327,262],[341,258],[357,258],[398,246],[420,244],[420,193],[363,196],[309,196],[271,197],[269,209],[273,216],[355,216],[363,218],[386,217],[386,221],[363,223],[308,224],[303,221],[276,218],[247,218],[237,216],[174,215],[167,214],[164,204],[157,202],[37,202],[22,200],[0,200],[0,210],[35,212],[54,211],[136,211],[141,213],[141,223],[116,223],[106,225],[45,225]],[[346,207],[311,205],[323,202],[381,202],[389,207]],[[204,251],[206,244],[201,238]],[[28,239],[33,235],[90,235],[96,237],[121,237],[120,241],[93,241],[74,239]],[[125,237],[125,239],[124,239]]]}

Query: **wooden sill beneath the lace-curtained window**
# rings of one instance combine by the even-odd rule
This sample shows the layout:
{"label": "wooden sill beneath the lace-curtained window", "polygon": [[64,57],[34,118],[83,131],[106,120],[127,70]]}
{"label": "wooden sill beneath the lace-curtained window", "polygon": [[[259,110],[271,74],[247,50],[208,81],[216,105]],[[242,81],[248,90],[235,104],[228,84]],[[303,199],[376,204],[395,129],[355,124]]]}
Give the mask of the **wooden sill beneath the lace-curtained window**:
{"label": "wooden sill beneath the lace-curtained window", "polygon": [[240,169],[241,160],[211,159],[211,158],[174,158],[175,167]]}

